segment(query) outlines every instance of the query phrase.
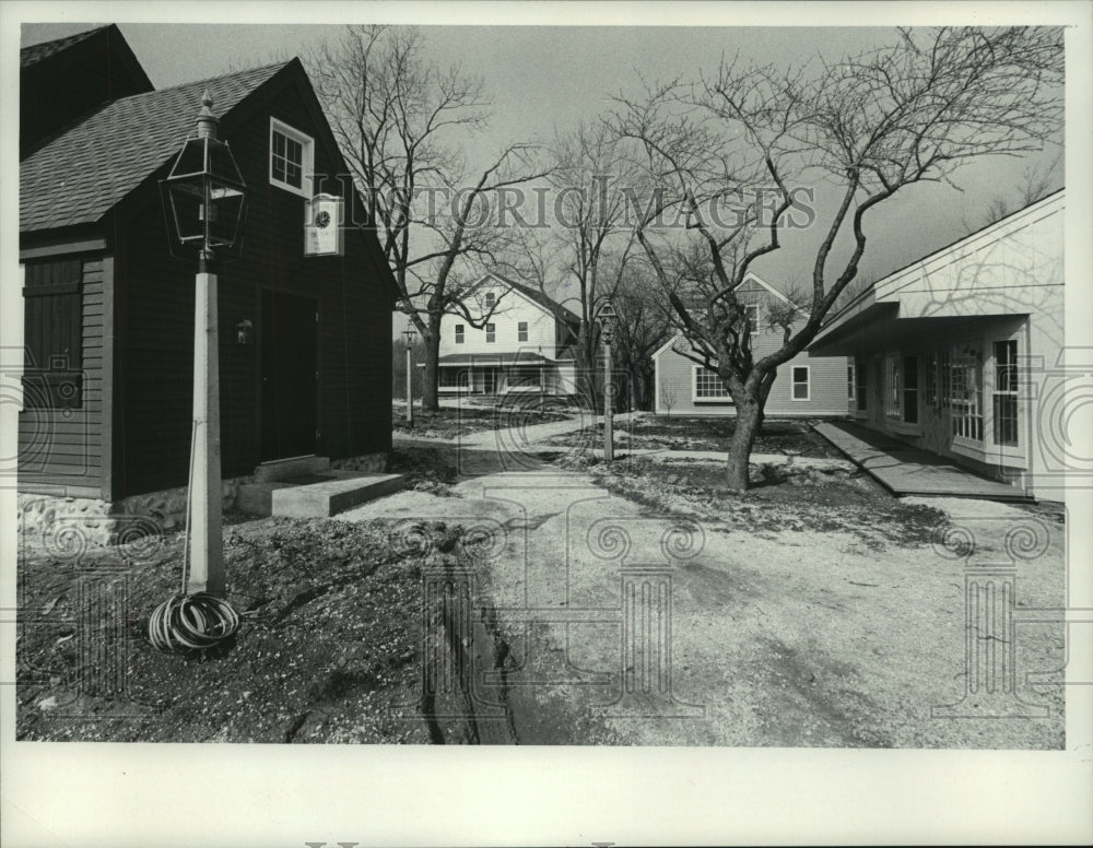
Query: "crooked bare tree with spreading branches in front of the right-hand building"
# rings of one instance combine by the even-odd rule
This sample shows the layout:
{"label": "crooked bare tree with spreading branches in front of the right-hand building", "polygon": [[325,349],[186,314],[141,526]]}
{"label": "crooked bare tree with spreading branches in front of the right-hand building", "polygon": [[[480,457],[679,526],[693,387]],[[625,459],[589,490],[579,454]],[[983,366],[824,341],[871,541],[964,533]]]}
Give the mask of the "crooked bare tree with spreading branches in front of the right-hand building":
{"label": "crooked bare tree with spreading branches in front of the right-hand building", "polygon": [[[647,180],[637,238],[693,358],[717,370],[736,404],[730,488],[748,488],[777,367],[815,338],[857,276],[870,211],[906,186],[948,179],[969,160],[1018,155],[1057,138],[1062,56],[1060,28],[900,31],[890,47],[810,72],[722,61],[696,82],[618,98],[610,126],[630,141]],[[799,193],[806,179],[822,180],[837,199],[820,223],[801,320],[756,360],[736,290],[783,235],[819,221]],[[667,227],[666,212],[684,215],[687,227]],[[668,261],[681,232],[708,252],[715,285],[704,298],[683,296]],[[850,243],[845,251],[835,249],[841,236]]]}

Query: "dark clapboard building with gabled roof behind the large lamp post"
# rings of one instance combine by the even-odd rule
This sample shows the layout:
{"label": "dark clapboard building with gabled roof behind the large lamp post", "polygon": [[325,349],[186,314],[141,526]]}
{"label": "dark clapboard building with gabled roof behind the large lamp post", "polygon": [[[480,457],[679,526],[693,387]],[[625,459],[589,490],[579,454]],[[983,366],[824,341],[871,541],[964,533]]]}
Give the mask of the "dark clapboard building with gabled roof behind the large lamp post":
{"label": "dark clapboard building with gabled roof behind the large lamp post", "polygon": [[313,195],[361,201],[299,60],[156,91],[111,25],[21,54],[22,492],[131,511],[187,483],[196,269],[158,184],[205,91],[248,189],[218,268],[222,474],[386,460],[395,282],[371,231],[305,255]]}

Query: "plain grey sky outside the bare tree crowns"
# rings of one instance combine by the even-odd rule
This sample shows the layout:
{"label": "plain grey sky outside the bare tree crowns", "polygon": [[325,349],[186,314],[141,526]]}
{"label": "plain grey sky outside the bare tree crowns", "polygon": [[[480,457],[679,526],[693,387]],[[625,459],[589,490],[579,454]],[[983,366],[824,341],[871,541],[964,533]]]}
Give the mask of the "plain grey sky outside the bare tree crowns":
{"label": "plain grey sky outside the bare tree crowns", "polygon": [[[26,23],[22,43],[108,22]],[[119,25],[156,87],[303,57],[341,30],[306,24]],[[493,117],[489,131],[471,142],[481,155],[518,140],[546,140],[555,128],[596,119],[609,107],[610,95],[638,91],[638,74],[648,80],[694,78],[738,50],[744,59],[799,64],[816,54],[831,59],[877,47],[894,36],[892,26],[425,26],[424,33],[428,54],[438,62],[461,63],[485,80]],[[980,161],[960,174],[963,191],[937,184],[910,187],[872,215],[862,274],[883,275],[978,228],[987,204],[1015,196],[1014,185],[1030,167],[1050,168],[1054,186],[1063,185],[1061,149],[1056,146],[1026,160]],[[778,286],[804,282],[820,235],[819,227],[794,234],[784,250],[761,260],[755,270]]]}

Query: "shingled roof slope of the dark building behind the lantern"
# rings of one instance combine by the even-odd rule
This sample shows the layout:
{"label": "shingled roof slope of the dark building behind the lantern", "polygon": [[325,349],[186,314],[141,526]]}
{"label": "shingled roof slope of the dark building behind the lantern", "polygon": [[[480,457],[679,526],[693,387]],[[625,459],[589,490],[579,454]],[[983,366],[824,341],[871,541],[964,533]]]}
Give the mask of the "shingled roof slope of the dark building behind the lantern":
{"label": "shingled roof slope of the dark building behind the lantern", "polygon": [[98,221],[192,134],[205,89],[212,95],[213,111],[223,118],[285,64],[104,105],[20,163],[20,232]]}

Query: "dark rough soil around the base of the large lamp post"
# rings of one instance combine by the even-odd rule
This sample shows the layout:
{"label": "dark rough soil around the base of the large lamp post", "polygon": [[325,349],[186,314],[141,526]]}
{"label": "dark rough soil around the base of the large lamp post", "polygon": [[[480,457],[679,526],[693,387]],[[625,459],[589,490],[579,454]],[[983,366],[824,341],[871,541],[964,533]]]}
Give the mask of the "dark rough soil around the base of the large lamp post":
{"label": "dark rough soil around the base of the large lamp post", "polygon": [[413,703],[410,720],[393,715],[418,683],[422,557],[388,534],[383,521],[237,517],[225,564],[243,627],[190,657],[146,638],[180,588],[181,533],[68,556],[25,539],[16,738],[428,742]]}

